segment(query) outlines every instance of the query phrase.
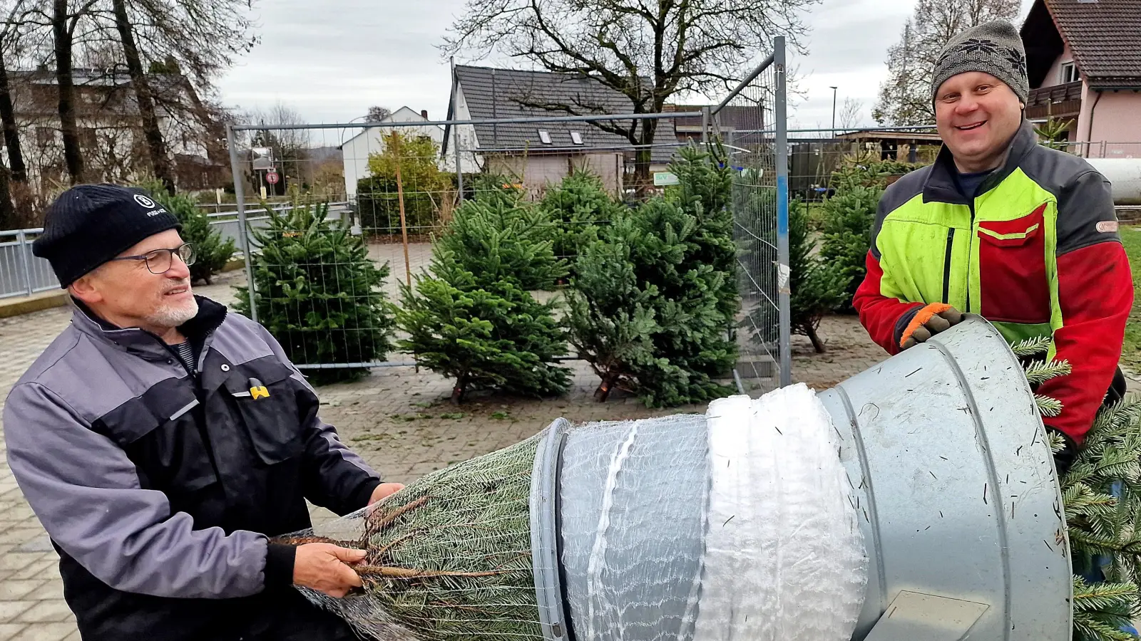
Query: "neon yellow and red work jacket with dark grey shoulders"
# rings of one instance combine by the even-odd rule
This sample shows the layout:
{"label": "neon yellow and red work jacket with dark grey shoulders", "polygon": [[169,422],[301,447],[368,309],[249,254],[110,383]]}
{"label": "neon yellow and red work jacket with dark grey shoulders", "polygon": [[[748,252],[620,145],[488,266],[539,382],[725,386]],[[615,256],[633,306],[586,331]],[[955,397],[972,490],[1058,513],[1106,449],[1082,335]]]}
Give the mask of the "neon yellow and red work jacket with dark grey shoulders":
{"label": "neon yellow and red work jacket with dark grey shoulders", "polygon": [[853,300],[860,322],[891,354],[932,302],[981,315],[1010,342],[1053,336],[1051,356],[1073,373],[1038,393],[1063,404],[1046,423],[1081,443],[1133,305],[1109,182],[1084,160],[1038,145],[1025,121],[973,200],[956,187],[953,163],[945,147],[884,192]]}

